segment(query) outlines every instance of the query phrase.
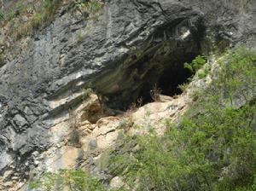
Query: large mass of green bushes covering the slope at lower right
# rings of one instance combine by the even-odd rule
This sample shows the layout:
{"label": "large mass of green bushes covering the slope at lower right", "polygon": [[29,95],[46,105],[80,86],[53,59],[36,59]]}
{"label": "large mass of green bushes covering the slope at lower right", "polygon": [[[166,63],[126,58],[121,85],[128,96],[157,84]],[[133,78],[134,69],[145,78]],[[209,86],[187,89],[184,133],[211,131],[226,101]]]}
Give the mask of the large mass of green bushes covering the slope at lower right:
{"label": "large mass of green bushes covering the slope at lower right", "polygon": [[135,190],[255,190],[255,61],[252,50],[228,51],[180,123],[160,137],[127,136],[109,171]]}

